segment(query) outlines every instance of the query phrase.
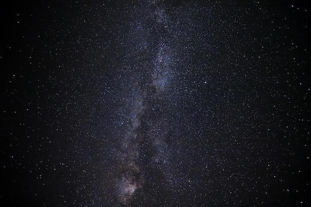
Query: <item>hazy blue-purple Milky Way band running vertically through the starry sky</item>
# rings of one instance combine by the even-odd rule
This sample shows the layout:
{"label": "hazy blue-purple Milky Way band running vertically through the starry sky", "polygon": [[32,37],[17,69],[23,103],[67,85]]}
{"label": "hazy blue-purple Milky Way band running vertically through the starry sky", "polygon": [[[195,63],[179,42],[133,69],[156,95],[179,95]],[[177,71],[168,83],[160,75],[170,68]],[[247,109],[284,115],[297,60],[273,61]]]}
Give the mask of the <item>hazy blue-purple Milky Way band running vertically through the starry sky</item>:
{"label": "hazy blue-purple Milky Way band running vertically through the starry sky", "polygon": [[125,40],[133,41],[139,48],[128,57],[133,59],[129,66],[133,86],[129,87],[130,95],[120,108],[119,115],[124,119],[120,128],[124,132],[120,134],[120,128],[115,132],[120,134],[121,143],[121,150],[116,150],[120,153],[117,157],[120,157],[118,171],[121,172],[116,193],[120,203],[132,205],[137,196],[154,201],[165,198],[162,193],[167,191],[170,155],[166,139],[173,109],[169,100],[170,93],[176,90],[173,86],[175,57],[170,47],[173,42],[169,38],[173,35],[169,26],[172,22],[155,2],[142,6],[146,11],[134,18],[130,30],[134,35]]}

